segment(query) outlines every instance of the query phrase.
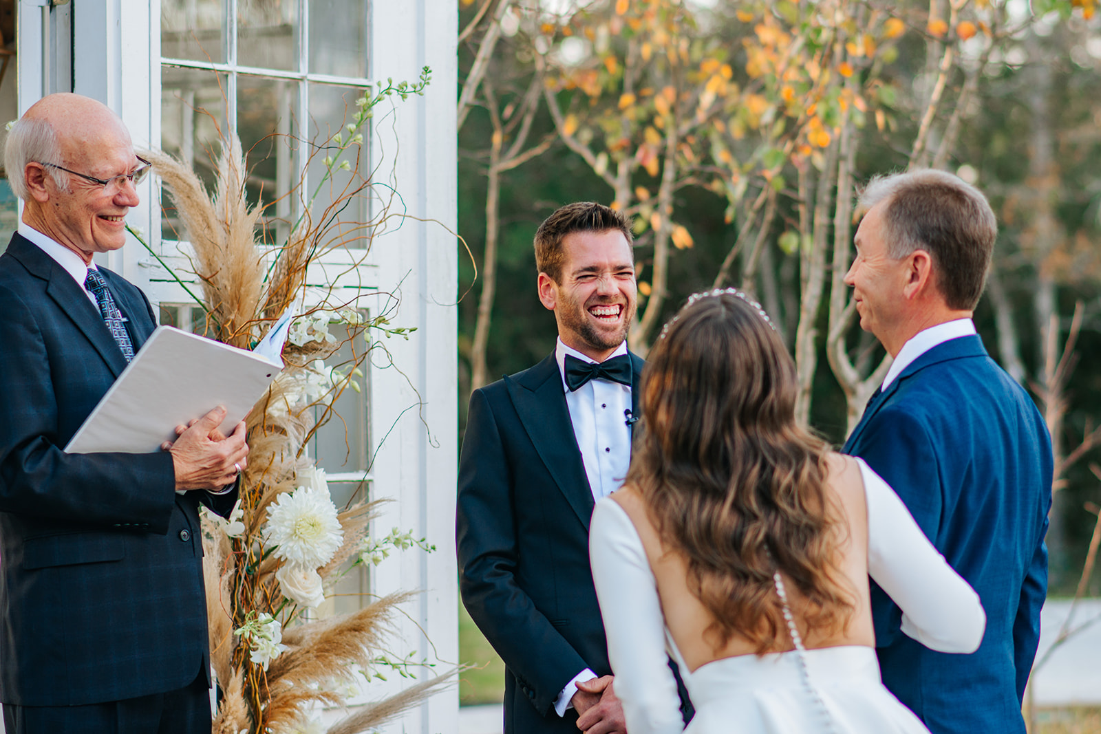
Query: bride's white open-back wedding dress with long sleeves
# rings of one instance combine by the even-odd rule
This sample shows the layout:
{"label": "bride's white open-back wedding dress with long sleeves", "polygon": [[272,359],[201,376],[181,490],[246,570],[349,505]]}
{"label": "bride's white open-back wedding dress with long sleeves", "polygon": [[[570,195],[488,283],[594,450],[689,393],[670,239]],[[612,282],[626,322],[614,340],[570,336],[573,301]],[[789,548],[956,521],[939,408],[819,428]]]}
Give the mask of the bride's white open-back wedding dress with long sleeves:
{"label": "bride's white open-back wedding dress with long sleeves", "polygon": [[[936,650],[973,651],[985,626],[978,594],[929,544],[894,491],[863,461],[860,470],[869,573],[902,609],[902,631]],[[797,649],[789,653],[740,655],[688,672],[665,627],[642,541],[613,500],[597,504],[589,545],[615,694],[630,734],[928,734],[883,687],[871,647],[805,650],[793,628]],[[669,656],[696,706],[687,730]]]}

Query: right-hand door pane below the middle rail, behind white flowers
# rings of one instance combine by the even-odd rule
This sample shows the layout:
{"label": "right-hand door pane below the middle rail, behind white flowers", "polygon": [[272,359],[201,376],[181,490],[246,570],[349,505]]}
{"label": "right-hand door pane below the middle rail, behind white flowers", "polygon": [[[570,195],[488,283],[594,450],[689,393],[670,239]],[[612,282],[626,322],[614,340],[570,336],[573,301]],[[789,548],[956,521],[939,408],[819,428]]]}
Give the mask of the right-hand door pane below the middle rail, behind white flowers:
{"label": "right-hand door pane below the middle rail, behind white flowers", "polygon": [[[347,339],[348,331],[339,325],[331,325],[329,331],[337,339]],[[366,341],[360,335],[355,340],[346,341],[340,350],[325,360],[328,366],[340,372],[349,372],[357,361],[361,361],[360,370],[369,374],[367,360],[363,357]],[[352,377],[359,383],[360,392],[346,387],[334,404],[334,413],[328,423],[317,429],[309,452],[317,464],[329,473],[366,471],[368,465],[367,447],[367,395],[370,387],[367,376]],[[323,412],[317,409],[315,419],[320,419]],[[345,496],[345,502],[347,502]],[[334,500],[337,496],[334,494]],[[357,500],[363,499],[362,496]]]}

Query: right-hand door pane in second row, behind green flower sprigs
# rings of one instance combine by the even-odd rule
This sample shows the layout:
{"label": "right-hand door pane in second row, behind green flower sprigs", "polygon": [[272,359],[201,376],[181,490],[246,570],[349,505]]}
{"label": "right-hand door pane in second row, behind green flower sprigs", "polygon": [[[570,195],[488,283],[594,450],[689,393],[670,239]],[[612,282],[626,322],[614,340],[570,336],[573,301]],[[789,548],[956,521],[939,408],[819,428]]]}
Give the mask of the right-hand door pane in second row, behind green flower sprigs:
{"label": "right-hand door pane in second row, behind green flower sprigs", "polygon": [[[319,212],[334,207],[336,222],[325,240],[327,247],[342,244],[350,248],[366,248],[368,216],[368,196],[370,189],[366,177],[370,176],[370,151],[367,138],[368,124],[355,132],[345,127],[355,122],[353,118],[359,107],[356,100],[363,94],[362,89],[336,87],[325,84],[309,85],[309,134],[313,145],[309,160],[309,193],[317,191],[317,198],[310,207],[315,219]],[[333,136],[339,134],[341,143],[337,144]],[[359,143],[350,142],[356,134],[362,134]],[[339,146],[344,145],[341,152]],[[333,156],[331,172],[325,165],[326,156]],[[341,168],[344,162],[348,167]]]}

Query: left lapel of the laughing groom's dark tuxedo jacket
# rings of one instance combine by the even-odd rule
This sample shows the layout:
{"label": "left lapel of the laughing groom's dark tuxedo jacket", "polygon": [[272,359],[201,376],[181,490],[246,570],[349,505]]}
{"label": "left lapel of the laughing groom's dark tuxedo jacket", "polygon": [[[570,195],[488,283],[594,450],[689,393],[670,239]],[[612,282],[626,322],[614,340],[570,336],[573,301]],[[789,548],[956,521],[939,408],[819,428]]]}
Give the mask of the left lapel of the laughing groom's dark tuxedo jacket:
{"label": "left lapel of the laughing groom's dark tuxedo jacket", "polygon": [[504,384],[535,450],[588,532],[595,506],[592,490],[577,448],[554,354],[515,379],[505,377]]}

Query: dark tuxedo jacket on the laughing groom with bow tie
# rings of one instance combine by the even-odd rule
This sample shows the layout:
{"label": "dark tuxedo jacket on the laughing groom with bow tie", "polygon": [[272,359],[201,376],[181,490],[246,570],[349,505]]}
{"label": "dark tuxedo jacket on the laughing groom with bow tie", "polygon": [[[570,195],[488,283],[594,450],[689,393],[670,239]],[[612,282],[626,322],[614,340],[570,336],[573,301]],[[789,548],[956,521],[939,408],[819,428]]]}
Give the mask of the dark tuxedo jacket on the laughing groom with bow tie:
{"label": "dark tuxedo jacket on the laughing groom with bow tie", "polygon": [[[637,414],[643,361],[632,354]],[[552,353],[470,396],[456,515],[462,602],[505,665],[505,734],[577,734],[554,701],[611,675],[589,567],[595,502]]]}

